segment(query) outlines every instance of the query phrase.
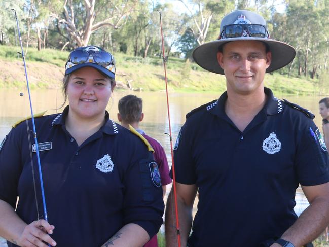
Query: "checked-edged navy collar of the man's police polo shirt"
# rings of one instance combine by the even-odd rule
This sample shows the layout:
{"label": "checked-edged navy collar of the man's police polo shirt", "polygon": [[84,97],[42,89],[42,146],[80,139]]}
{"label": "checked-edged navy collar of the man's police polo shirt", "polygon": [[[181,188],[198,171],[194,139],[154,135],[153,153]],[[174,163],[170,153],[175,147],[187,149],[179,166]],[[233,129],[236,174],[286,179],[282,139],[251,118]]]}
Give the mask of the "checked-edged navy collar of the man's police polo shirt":
{"label": "checked-edged navy collar of the man's police polo shirt", "polygon": [[[282,112],[282,101],[273,95],[273,92],[269,88],[264,88],[264,92],[267,95],[267,101],[264,105],[263,110],[266,111],[267,115],[275,115]],[[207,110],[214,115],[225,117],[225,102],[227,100],[227,91],[225,91],[218,100],[207,106]],[[261,110],[261,111],[263,111]]]}

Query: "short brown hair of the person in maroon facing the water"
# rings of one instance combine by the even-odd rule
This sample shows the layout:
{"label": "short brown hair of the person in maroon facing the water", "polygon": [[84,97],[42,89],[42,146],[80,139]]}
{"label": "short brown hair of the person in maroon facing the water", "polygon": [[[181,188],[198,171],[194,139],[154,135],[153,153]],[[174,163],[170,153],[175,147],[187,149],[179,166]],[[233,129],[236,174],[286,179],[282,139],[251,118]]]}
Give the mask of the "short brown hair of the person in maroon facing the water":
{"label": "short brown hair of the person in maroon facing the water", "polygon": [[128,124],[139,122],[143,110],[143,100],[129,94],[119,100],[118,109],[124,122]]}

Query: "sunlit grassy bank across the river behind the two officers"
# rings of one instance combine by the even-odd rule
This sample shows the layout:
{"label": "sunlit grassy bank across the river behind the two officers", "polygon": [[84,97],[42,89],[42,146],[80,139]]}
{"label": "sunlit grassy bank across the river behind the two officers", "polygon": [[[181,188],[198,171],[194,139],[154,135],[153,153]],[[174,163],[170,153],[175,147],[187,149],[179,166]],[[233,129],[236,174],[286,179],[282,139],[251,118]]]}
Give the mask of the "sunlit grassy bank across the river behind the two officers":
{"label": "sunlit grassy bank across the river behind the two officers", "polygon": [[[25,75],[20,47],[0,46],[0,88],[24,88]],[[132,90],[159,91],[165,89],[162,59],[140,58],[125,54],[114,54],[117,64],[116,80],[122,88],[129,82]],[[59,88],[64,73],[68,52],[53,49],[38,51],[28,48],[26,63],[32,89]],[[167,62],[168,86],[175,91],[222,92],[225,77],[206,72],[195,63],[178,58]],[[267,74],[265,85],[275,93],[311,95],[316,93],[316,80],[287,78],[274,73]]]}

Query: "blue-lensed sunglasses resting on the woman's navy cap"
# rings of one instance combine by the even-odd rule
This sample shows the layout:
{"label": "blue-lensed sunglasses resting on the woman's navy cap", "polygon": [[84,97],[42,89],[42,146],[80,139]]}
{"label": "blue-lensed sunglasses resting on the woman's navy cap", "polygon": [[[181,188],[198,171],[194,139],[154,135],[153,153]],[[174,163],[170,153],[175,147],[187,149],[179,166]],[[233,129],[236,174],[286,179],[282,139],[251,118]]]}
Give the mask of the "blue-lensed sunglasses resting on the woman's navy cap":
{"label": "blue-lensed sunglasses resting on the woman's navy cap", "polygon": [[[89,58],[93,59],[90,60]],[[86,50],[73,50],[68,56],[69,61],[73,64],[81,64],[85,62],[93,62],[100,66],[107,67],[111,64],[115,65],[114,57],[106,51],[95,51],[90,54]]]}

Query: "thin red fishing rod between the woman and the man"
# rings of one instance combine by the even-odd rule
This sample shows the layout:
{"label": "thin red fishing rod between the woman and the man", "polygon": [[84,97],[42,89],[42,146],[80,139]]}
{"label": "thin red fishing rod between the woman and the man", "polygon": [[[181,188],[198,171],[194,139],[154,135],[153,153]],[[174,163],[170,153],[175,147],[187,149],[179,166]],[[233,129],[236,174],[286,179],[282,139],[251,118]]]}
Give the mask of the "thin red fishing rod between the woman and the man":
{"label": "thin red fishing rod between the woman and the man", "polygon": [[174,200],[175,200],[175,213],[176,213],[176,233],[178,247],[180,247],[180,230],[179,230],[179,220],[178,220],[178,205],[177,205],[177,194],[176,194],[176,176],[175,176],[175,164],[174,164],[174,155],[172,150],[172,135],[171,135],[171,124],[170,124],[170,111],[169,111],[169,97],[168,97],[168,81],[167,81],[167,70],[166,70],[166,61],[164,53],[164,42],[163,42],[163,32],[162,32],[162,19],[161,19],[161,10],[157,10],[160,17],[160,30],[161,30],[161,41],[162,41],[162,58],[163,58],[163,67],[165,73],[165,82],[166,82],[166,94],[167,94],[167,109],[168,109],[168,122],[169,122],[169,139],[170,139],[170,153],[171,153],[171,170],[172,170],[172,179],[173,179],[173,188],[174,188]]}

